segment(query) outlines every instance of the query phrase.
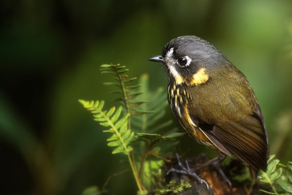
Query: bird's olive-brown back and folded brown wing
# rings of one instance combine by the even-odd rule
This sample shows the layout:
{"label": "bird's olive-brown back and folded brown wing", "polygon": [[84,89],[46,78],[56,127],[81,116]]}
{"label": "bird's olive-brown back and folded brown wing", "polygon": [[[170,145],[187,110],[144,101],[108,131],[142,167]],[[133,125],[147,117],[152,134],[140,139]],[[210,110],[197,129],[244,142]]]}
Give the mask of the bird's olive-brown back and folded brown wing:
{"label": "bird's olive-brown back and folded brown wing", "polygon": [[[237,79],[237,82],[229,81],[225,86],[218,85],[220,82],[206,83],[201,90],[200,86],[192,90],[191,117],[198,121],[202,132],[222,152],[236,155],[255,170],[266,170],[267,134],[251,87],[245,77],[242,81]],[[201,94],[205,94],[204,100],[199,99]]]}

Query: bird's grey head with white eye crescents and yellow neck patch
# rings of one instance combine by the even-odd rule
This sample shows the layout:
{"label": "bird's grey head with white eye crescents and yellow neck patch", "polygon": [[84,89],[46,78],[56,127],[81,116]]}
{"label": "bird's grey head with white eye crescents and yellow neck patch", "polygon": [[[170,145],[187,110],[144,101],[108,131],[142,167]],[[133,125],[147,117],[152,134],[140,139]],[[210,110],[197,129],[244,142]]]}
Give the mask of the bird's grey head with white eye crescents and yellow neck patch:
{"label": "bird's grey head with white eye crescents and yellow neck patch", "polygon": [[210,43],[197,36],[180,36],[171,40],[162,55],[149,59],[161,62],[176,84],[199,85],[226,64],[224,55]]}

